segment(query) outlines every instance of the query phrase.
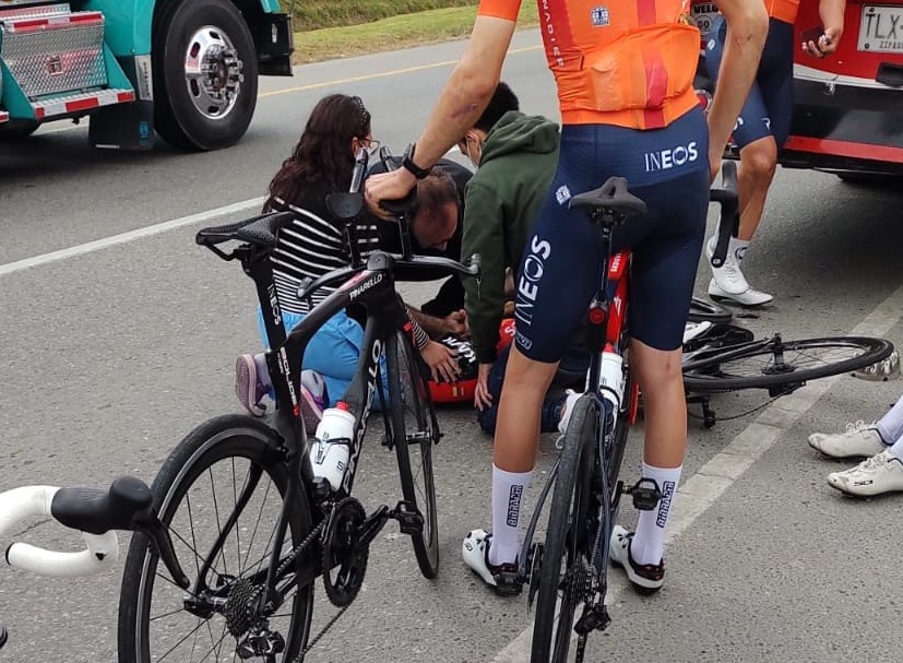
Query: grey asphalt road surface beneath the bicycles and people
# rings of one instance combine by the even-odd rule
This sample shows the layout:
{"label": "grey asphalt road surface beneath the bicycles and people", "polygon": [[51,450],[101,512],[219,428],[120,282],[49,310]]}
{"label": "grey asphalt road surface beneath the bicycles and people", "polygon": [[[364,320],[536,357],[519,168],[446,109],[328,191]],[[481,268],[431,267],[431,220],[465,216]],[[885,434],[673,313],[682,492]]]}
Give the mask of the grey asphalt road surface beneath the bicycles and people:
{"label": "grey asphalt road surface beneath the bicycles and people", "polygon": [[[504,79],[524,110],[556,117],[537,45],[535,32],[519,35]],[[254,293],[237,265],[194,246],[194,232],[257,211],[325,93],[359,94],[375,137],[401,152],[460,51],[455,43],[324,62],[268,81],[247,138],[224,152],[95,152],[85,128],[57,126],[0,146],[0,488],[103,486],[123,473],[150,482],[191,428],[236,412],[234,358],[259,345]],[[781,170],[746,268],[775,304],[739,321],[757,334],[855,331],[903,344],[902,196]],[[706,283],[701,269],[700,293]],[[824,475],[848,463],[805,440],[879,417],[900,389],[844,376],[711,430],[691,419],[667,584],[653,597],[616,584],[614,623],[591,639],[587,660],[898,661],[903,498],[840,496]],[[763,402],[744,393],[713,404],[726,417]],[[443,410],[441,425],[439,579],[418,575],[408,542],[388,526],[361,595],[308,660],[527,659],[525,600],[494,596],[460,558],[463,534],[488,524],[491,439],[467,409]],[[635,476],[641,431],[631,439],[625,472]],[[543,440],[537,483],[554,453]],[[396,499],[393,459],[371,446],[361,462],[365,505]],[[634,514],[622,518],[631,524]],[[13,537],[78,545],[40,522]],[[62,581],[3,568],[0,620],[11,641],[0,659],[114,661],[120,571],[121,561]]]}

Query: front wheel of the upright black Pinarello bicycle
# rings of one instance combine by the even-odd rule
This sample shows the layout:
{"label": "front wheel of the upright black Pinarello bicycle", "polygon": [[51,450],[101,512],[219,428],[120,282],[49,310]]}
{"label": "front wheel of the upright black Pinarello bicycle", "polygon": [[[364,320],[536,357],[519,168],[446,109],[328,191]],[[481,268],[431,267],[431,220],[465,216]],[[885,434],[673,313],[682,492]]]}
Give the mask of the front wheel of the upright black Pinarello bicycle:
{"label": "front wheel of the upright black Pinarello bicycle", "polygon": [[439,531],[432,447],[439,441],[439,424],[418,353],[408,338],[402,332],[390,336],[385,354],[402,495],[424,519],[421,531],[411,535],[414,555],[424,577],[436,578],[439,572]]}

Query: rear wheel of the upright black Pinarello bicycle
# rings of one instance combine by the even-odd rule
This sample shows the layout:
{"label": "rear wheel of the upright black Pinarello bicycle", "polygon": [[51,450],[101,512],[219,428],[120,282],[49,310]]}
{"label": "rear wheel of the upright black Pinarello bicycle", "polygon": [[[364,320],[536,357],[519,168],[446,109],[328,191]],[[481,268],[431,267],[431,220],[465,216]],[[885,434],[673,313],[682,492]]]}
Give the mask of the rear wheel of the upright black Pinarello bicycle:
{"label": "rear wheel of the upright black Pinarello bicycle", "polygon": [[[191,587],[186,591],[178,588],[169,578],[166,567],[159,564],[150,540],[143,534],[132,536],[122,573],[119,603],[120,663],[170,660],[194,663],[210,658],[222,660],[224,652],[236,655],[229,649],[236,640],[227,630],[225,608],[221,606],[211,609],[209,616],[199,617],[185,609],[185,600],[189,592],[193,593],[198,589],[200,567],[209,556],[207,550],[212,549],[205,546],[206,541],[215,541],[219,531],[228,534],[218,554],[213,556],[214,564],[206,573],[207,588],[214,588],[214,580],[219,583],[218,588],[212,589],[216,596],[227,596],[236,580],[245,576],[242,561],[250,563],[252,571],[268,568],[269,556],[272,555],[272,552],[268,554],[268,549],[272,550],[269,546],[275,536],[276,520],[288,486],[288,465],[281,446],[277,434],[263,423],[243,415],[226,415],[210,419],[192,430],[169,454],[151,489],[154,507],[170,532],[177,558],[191,579]],[[242,483],[240,472],[245,467],[247,474]],[[228,480],[229,472],[231,483],[226,481],[217,495],[214,482],[217,477]],[[221,507],[228,508],[231,505],[235,511],[246,489],[249,498],[237,520],[231,523],[234,529],[223,528],[224,523],[229,524],[231,517],[228,512],[221,512]],[[203,501],[205,493],[213,496],[212,511]],[[271,500],[268,501],[268,498]],[[180,507],[187,507],[188,510],[190,523],[187,529],[183,522],[186,513]],[[241,520],[245,513],[259,519],[253,528],[242,528],[246,524]],[[292,545],[298,545],[311,531],[311,512],[304,490],[300,492],[298,502],[287,513],[289,531],[286,538],[290,537],[290,541],[285,542],[283,552],[290,549]],[[193,520],[195,514],[201,519],[200,522]],[[211,532],[201,531],[205,525]],[[262,554],[256,547],[260,543],[257,540],[259,530],[260,541],[264,542]],[[230,548],[227,552],[231,543],[237,548],[235,557]],[[298,556],[298,566],[304,564],[304,557]],[[236,564],[234,568],[233,561]],[[159,590],[157,595],[154,594],[155,589]],[[312,590],[312,582],[305,588],[296,588],[294,596],[289,595],[272,618],[276,623],[275,629],[280,630],[285,625],[285,630],[280,630],[285,638],[285,649],[280,658],[254,660],[283,663],[295,660],[309,637]],[[152,604],[157,601],[161,603],[154,608]],[[156,612],[159,616],[154,614]],[[169,625],[179,618],[185,621],[188,634],[181,642],[179,639],[186,632],[173,632],[171,627],[164,626],[164,623]],[[151,632],[152,625],[154,634]],[[159,636],[156,635],[157,627],[162,629]],[[182,646],[185,649],[179,649]]]}

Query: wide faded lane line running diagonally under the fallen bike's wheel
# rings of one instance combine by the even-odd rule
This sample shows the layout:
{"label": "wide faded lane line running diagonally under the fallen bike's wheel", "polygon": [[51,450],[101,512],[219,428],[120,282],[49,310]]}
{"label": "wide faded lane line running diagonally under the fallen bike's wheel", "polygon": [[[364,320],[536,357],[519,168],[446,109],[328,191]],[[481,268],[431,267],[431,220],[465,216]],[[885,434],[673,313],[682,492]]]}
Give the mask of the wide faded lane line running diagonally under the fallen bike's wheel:
{"label": "wide faded lane line running diagonally under the fallen bike's wheel", "polygon": [[[903,319],[903,286],[879,304],[851,332],[853,336],[886,336]],[[681,483],[677,490],[665,542],[670,543],[688,530],[709,507],[740,478],[777,440],[805,416],[819,399],[843,376],[820,378],[805,388],[782,396],[765,407],[727,447]],[[608,599],[615,604],[627,589],[623,573],[609,573]],[[523,663],[530,660],[533,625],[521,631],[491,663]]]}

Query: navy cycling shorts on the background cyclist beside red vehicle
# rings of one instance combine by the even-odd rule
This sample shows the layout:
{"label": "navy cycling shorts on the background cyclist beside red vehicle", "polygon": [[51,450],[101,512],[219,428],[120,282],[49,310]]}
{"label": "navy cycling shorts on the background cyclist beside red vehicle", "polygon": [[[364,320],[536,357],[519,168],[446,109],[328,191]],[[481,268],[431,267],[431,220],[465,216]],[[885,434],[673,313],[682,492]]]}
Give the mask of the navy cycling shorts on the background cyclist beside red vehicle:
{"label": "navy cycling shorts on the background cyclist beside red vehicle", "polygon": [[[705,68],[717,85],[718,68],[727,37],[724,16],[718,15],[710,34],[705,45]],[[738,147],[746,147],[769,135],[774,138],[779,150],[787,141],[793,116],[793,25],[770,19],[759,71],[734,127],[734,142]]]}

